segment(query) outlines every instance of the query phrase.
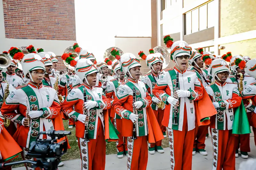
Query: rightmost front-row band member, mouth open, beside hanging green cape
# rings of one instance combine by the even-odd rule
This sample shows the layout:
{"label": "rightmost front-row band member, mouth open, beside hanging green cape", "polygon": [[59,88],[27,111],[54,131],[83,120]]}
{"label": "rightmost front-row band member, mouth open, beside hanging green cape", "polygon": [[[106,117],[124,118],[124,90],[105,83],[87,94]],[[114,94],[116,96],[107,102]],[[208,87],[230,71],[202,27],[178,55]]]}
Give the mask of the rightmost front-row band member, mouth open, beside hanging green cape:
{"label": "rightmost front-row band member, mouth open, beside hanging green cape", "polygon": [[211,117],[211,134],[213,144],[212,170],[235,169],[235,136],[232,134],[234,108],[240,106],[237,85],[227,83],[228,64],[223,59],[212,61],[210,72],[215,83],[206,86],[206,91],[213,101],[217,114]]}

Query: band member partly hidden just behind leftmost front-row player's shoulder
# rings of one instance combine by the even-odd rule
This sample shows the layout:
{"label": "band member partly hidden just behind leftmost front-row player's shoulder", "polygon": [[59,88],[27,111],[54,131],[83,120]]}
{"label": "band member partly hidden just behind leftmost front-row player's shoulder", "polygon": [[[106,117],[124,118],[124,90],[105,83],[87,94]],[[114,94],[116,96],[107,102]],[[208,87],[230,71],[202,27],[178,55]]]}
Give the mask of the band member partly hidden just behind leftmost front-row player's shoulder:
{"label": "band member partly hidden just behind leftmost front-row player's shoulder", "polygon": [[46,74],[44,75],[43,78],[43,85],[54,87],[54,83],[56,81],[56,78],[51,76],[52,74],[52,61],[51,57],[48,53],[44,52],[44,49],[42,48],[37,48],[38,55],[41,56],[41,58],[44,61],[44,67],[46,70]]}

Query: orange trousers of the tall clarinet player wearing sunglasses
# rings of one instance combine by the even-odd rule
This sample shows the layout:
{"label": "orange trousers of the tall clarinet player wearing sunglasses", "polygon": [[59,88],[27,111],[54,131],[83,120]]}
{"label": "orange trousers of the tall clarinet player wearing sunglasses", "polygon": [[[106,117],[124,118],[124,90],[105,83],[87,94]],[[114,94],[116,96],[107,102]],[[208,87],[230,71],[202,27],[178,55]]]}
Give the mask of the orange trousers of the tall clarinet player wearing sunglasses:
{"label": "orange trousers of the tall clarinet player wearing sunglasses", "polygon": [[188,131],[187,110],[185,105],[182,131],[168,128],[170,161],[172,170],[191,170],[195,129]]}

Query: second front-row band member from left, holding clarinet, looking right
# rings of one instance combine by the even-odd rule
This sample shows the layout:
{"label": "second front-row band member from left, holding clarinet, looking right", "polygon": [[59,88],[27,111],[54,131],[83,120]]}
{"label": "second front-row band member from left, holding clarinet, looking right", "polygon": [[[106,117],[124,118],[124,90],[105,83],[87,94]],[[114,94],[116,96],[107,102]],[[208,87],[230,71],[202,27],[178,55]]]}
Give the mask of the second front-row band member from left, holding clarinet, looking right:
{"label": "second front-row band member from left, holding clarinet, looking right", "polygon": [[[76,122],[76,137],[82,159],[82,170],[104,170],[105,140],[109,139],[109,128],[111,128],[107,110],[111,104],[104,95],[102,88],[95,86],[98,70],[90,60],[79,59],[76,63],[75,72],[82,80],[82,84],[71,90],[61,108],[66,115]],[[84,101],[85,93],[86,101]],[[86,114],[83,114],[83,105],[86,108],[84,109]],[[89,121],[87,123],[88,129],[85,129],[84,124],[87,120]],[[84,139],[86,138],[85,130],[88,132],[89,142]]]}

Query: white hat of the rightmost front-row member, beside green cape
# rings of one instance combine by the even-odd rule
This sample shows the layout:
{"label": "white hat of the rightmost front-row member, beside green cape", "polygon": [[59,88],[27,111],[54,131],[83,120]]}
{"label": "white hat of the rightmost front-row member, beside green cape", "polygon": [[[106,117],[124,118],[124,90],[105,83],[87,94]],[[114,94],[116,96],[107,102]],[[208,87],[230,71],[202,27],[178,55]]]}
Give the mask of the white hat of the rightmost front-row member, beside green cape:
{"label": "white hat of the rightmost front-row member, beside green cape", "polygon": [[217,58],[212,61],[211,65],[208,69],[208,74],[212,75],[212,77],[215,78],[217,73],[223,72],[223,71],[229,72],[228,63],[221,58]]}

